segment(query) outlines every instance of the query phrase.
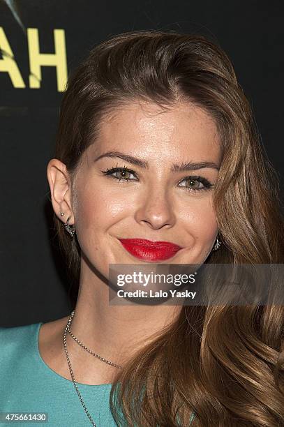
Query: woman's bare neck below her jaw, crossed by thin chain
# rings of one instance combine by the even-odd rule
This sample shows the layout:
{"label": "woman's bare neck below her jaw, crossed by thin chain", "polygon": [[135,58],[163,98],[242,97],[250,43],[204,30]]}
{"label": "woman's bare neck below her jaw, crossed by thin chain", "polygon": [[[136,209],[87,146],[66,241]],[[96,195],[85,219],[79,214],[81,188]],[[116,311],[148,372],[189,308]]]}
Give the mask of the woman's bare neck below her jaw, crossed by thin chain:
{"label": "woman's bare neck below her jaw, crossed by thin chain", "polygon": [[[110,305],[109,289],[92,271],[81,269],[80,290],[70,331],[89,350],[124,366],[135,352],[153,339],[153,334],[159,334],[175,320],[181,306]],[[73,350],[78,357],[80,354],[83,364],[93,368],[96,359],[96,370],[101,370],[102,374],[117,371],[117,368],[90,356],[69,334],[68,340],[73,341]]]}

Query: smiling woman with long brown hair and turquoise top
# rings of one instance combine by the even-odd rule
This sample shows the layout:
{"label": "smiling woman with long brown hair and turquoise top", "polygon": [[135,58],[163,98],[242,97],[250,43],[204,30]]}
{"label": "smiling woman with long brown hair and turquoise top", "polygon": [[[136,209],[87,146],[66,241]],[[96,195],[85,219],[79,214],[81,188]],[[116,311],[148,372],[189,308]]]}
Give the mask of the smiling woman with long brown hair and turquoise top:
{"label": "smiling woman with long brown hair and turquoise top", "polygon": [[1,411],[283,425],[283,306],[108,301],[110,264],[283,263],[277,176],[223,50],[163,31],[100,43],[68,81],[47,178],[79,292],[68,317],[1,330]]}

